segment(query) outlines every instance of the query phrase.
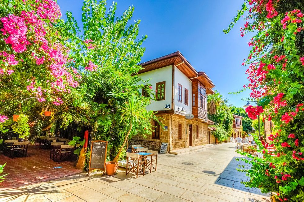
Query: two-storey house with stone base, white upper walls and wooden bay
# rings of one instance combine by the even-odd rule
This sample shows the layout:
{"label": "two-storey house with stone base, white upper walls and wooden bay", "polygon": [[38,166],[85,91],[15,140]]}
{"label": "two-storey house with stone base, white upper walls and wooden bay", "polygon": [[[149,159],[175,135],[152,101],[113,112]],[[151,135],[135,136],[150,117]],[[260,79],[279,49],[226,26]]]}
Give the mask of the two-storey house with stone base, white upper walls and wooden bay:
{"label": "two-storey house with stone base, white upper walls and wooden bay", "polygon": [[[197,72],[179,51],[141,66],[143,69],[137,76],[150,79],[156,97],[147,110],[157,112],[164,129],[153,121],[156,128],[152,135],[147,138],[137,135],[130,143],[154,150],[158,150],[161,143],[168,143],[168,150],[174,150],[212,141],[208,136],[207,95],[214,93],[215,86],[208,76]],[[193,114],[194,118],[186,119],[186,114]]]}

